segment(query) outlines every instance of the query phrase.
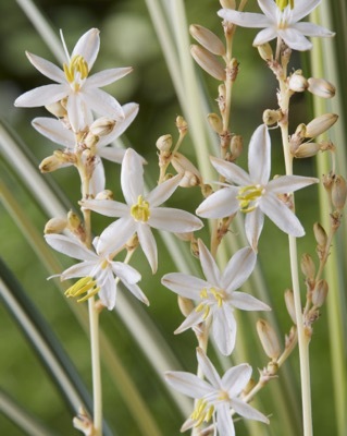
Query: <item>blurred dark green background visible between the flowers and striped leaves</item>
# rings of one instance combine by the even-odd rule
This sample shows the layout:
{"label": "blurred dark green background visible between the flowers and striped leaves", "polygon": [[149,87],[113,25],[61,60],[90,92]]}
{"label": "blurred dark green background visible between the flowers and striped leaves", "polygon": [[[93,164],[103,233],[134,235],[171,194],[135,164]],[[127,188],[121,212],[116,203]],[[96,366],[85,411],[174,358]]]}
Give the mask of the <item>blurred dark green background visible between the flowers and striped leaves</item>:
{"label": "blurred dark green background visible between the flowers and striped leaves", "polygon": [[[253,2],[251,2],[253,3]],[[140,111],[126,132],[126,144],[133,146],[148,160],[152,186],[157,177],[156,141],[166,133],[176,136],[175,118],[182,114],[182,109],[165,65],[161,47],[152,27],[147,7],[144,0],[96,0],[96,1],[64,1],[40,0],[37,7],[44,11],[53,29],[59,33],[63,29],[69,49],[71,50],[79,38],[90,27],[98,27],[101,33],[101,49],[94,71],[113,66],[132,65],[134,72],[127,77],[106,88],[114,95],[120,102],[137,101]],[[222,35],[220,20],[215,11],[220,8],[216,0],[203,2],[187,0],[186,12],[189,23],[202,24],[219,35]],[[37,165],[42,158],[54,149],[53,144],[32,129],[30,120],[38,116],[46,116],[42,108],[22,109],[14,108],[14,99],[27,89],[32,89],[49,80],[40,75],[27,61],[24,51],[28,50],[42,58],[57,63],[48,47],[40,39],[35,28],[25,16],[15,1],[3,0],[0,2],[0,38],[2,56],[0,57],[0,114],[27,145]],[[245,144],[248,143],[251,132],[261,123],[262,111],[273,108],[275,104],[275,82],[272,73],[268,71],[259,59],[257,50],[251,47],[255,32],[243,29],[236,37],[235,56],[240,62],[240,73],[235,87],[233,104],[233,132],[241,134]],[[295,69],[300,68],[301,60],[293,59]],[[209,96],[210,111],[216,111],[216,83],[210,80],[201,70],[198,75],[207,95]],[[293,124],[307,122],[309,112],[305,109],[302,96],[294,99]],[[194,158],[191,143],[186,138],[182,152]],[[247,153],[245,154],[247,156]],[[281,143],[276,132],[273,133],[273,174],[283,172]],[[245,156],[240,162],[245,162]],[[120,167],[106,165],[109,179],[108,187],[119,190]],[[34,222],[35,228],[41,232],[47,221],[45,214],[27,192],[25,185],[18,182],[12,171],[1,162],[1,172],[7,184],[11,186],[13,196],[20,202],[26,216]],[[312,161],[300,161],[296,166],[300,174],[314,173]],[[76,205],[79,198],[78,179],[72,168],[63,169],[44,178],[52,179],[62,187],[70,201]],[[303,190],[298,194],[298,215],[307,229],[307,238],[299,241],[299,253],[314,252],[312,238],[312,223],[318,219],[318,205],[312,201],[315,196],[314,189]],[[193,199],[191,199],[193,198]],[[196,189],[182,190],[172,201],[172,206],[195,210],[201,197]],[[303,206],[303,207],[300,207]],[[100,231],[104,221],[98,217],[94,220],[96,232]],[[203,233],[202,233],[203,237]],[[205,238],[205,237],[203,237]],[[157,238],[159,240],[159,238]],[[67,354],[76,365],[83,380],[90,389],[90,363],[88,339],[79,323],[76,320],[62,292],[58,290],[53,280],[47,281],[47,272],[36,253],[26,242],[16,223],[0,205],[0,241],[1,257],[17,277],[18,281],[49,323],[54,334],[62,342]],[[271,241],[269,243],[269,241]],[[160,245],[161,242],[160,242]],[[135,266],[142,274],[142,290],[148,295],[151,305],[146,310],[154,324],[170,343],[182,367],[195,371],[195,340],[190,332],[174,336],[173,330],[181,324],[182,315],[176,306],[176,298],[160,284],[160,277],[174,270],[170,254],[162,247],[160,268],[156,277],[151,277],[144,256],[138,253]],[[273,307],[278,307],[278,323],[283,332],[290,326],[285,312],[283,292],[289,287],[288,268],[273,267],[274,258],[277,265],[287,265],[286,237],[272,225],[267,222],[264,234],[260,243],[261,265],[264,270],[267,287],[269,289]],[[59,257],[64,266],[69,265],[66,258]],[[303,288],[303,279],[302,279]],[[135,302],[135,306],[136,302]],[[255,331],[255,324],[245,318]],[[154,375],[150,364],[124,328],[123,323],[113,313],[104,313],[101,317],[102,328],[124,362],[131,377],[138,386],[145,401],[158,421],[162,435],[178,434],[183,416],[168,400],[165,387]],[[311,346],[312,361],[312,399],[315,435],[334,434],[331,366],[329,358],[329,343],[326,319],[323,310],[322,318],[314,326],[314,340]],[[246,334],[247,340],[247,334]],[[249,339],[252,344],[252,340]],[[267,362],[265,356],[258,352],[250,355],[250,363],[255,374],[257,367]],[[294,352],[286,364],[292,374],[294,390],[297,393],[297,404],[300,407],[298,395],[298,354]],[[175,370],[171,367],[168,370]],[[281,377],[281,375],[280,375]],[[272,384],[278,383],[274,380]],[[273,395],[272,384],[259,395],[260,410],[272,414],[271,400]],[[50,377],[40,364],[36,354],[28,346],[14,320],[9,315],[5,306],[0,304],[0,389],[11,396],[18,404],[28,410],[40,422],[50,428],[51,434],[74,435],[79,434],[71,425],[73,412],[66,407],[63,398],[52,384]],[[272,400],[273,401],[273,400]],[[104,415],[114,434],[135,436],[141,434],[140,423],[134,423],[122,396],[110,380],[108,372],[103,376]],[[295,408],[294,408],[295,409]],[[293,420],[300,420],[294,415]],[[276,415],[271,416],[275,435],[289,435]],[[239,435],[246,434],[243,423]],[[0,413],[0,435],[20,436],[23,431],[16,428],[3,414]],[[259,433],[261,434],[261,433]]]}

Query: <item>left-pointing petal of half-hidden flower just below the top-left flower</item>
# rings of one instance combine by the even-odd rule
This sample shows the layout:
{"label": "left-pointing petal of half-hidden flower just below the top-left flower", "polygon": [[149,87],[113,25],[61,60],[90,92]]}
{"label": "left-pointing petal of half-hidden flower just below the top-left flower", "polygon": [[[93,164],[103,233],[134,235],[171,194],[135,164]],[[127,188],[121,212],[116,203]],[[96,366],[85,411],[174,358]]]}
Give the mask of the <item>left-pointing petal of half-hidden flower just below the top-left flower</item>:
{"label": "left-pointing petal of half-hidden flower just below the top-left flower", "polygon": [[32,121],[33,126],[50,141],[63,145],[67,148],[74,148],[75,135],[54,118],[35,118]]}

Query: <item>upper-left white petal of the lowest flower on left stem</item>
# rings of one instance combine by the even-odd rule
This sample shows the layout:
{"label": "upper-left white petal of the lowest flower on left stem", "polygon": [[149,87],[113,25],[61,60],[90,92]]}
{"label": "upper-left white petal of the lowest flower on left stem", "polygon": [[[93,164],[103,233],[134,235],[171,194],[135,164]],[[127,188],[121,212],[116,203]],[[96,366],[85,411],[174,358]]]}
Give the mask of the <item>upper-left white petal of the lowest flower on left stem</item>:
{"label": "upper-left white petal of the lowest flower on left stem", "polygon": [[65,237],[64,234],[46,234],[46,242],[60,253],[78,261],[97,261],[98,256],[88,250],[78,240]]}

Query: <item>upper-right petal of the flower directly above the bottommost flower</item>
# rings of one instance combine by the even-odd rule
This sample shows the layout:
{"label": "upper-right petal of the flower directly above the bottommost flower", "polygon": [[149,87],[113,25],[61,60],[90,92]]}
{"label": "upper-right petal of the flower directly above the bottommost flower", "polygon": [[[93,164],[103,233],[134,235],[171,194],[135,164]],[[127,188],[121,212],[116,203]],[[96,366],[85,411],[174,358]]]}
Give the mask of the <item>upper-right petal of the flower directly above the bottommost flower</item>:
{"label": "upper-right petal of the flower directly above the bottommost flower", "polygon": [[250,247],[238,250],[228,261],[221,279],[221,287],[227,292],[238,289],[255,269],[257,255]]}

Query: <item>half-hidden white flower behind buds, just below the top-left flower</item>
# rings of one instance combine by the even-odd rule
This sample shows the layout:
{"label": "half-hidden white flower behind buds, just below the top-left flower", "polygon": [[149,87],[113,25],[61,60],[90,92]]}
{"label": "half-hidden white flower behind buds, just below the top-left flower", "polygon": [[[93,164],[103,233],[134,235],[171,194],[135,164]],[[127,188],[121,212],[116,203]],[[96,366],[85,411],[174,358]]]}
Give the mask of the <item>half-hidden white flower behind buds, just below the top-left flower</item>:
{"label": "half-hidden white flower behind buds, just below the top-left flower", "polygon": [[[134,121],[138,112],[138,105],[135,102],[128,102],[122,107],[122,110],[124,113],[124,120],[117,121],[112,132],[108,135],[100,136],[96,144],[94,162],[95,170],[89,182],[90,194],[96,195],[104,190],[106,178],[103,165],[100,158],[104,158],[116,164],[121,164],[123,160],[125,154],[124,148],[107,147],[107,145],[120,137]],[[35,118],[32,124],[40,134],[57,144],[63,145],[70,152],[74,152],[79,145],[76,144],[76,134],[72,130],[67,129],[61,120],[39,117]],[[82,144],[82,146],[84,147],[84,144]],[[69,166],[69,164],[64,164],[64,167],[66,166]]]}

